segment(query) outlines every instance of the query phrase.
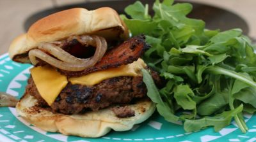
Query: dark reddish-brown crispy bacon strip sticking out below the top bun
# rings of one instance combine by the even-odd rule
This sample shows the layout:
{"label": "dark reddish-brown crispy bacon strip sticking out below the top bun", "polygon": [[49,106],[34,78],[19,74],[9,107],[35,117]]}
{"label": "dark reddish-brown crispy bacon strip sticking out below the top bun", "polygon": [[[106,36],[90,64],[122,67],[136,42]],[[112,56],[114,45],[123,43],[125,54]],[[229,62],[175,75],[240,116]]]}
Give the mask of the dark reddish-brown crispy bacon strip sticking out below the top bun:
{"label": "dark reddish-brown crispy bacon strip sticking out below the top bun", "polygon": [[64,71],[59,70],[65,76],[82,76],[88,75],[94,71],[102,71],[108,68],[115,68],[121,65],[130,64],[139,57],[149,48],[149,45],[145,43],[145,36],[135,36],[127,41],[124,41],[119,46],[112,48],[105,53],[104,57],[95,64],[93,67],[84,69],[83,71]]}

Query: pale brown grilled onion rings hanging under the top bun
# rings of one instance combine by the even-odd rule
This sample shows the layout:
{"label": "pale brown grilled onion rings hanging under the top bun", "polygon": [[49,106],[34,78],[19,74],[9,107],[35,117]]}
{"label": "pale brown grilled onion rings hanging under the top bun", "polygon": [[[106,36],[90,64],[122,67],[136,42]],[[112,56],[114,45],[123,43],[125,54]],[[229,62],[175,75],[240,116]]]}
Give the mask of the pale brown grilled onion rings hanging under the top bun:
{"label": "pale brown grilled onion rings hanging under the top bun", "polygon": [[[93,43],[96,45],[96,51],[93,57],[88,59],[76,58],[73,55],[70,55],[69,53],[65,52],[60,47],[53,45],[51,43],[42,43],[38,46],[39,49],[30,50],[29,59],[34,65],[38,64],[38,60],[36,60],[37,57],[59,69],[63,69],[66,71],[83,71],[88,67],[94,66],[97,63],[97,61],[103,57],[104,53],[107,50],[107,42],[104,38],[100,36],[92,36],[92,39],[94,40],[94,42],[89,41],[88,43],[86,43],[86,39],[81,39],[84,45],[93,45]],[[60,60],[52,57],[51,55],[48,55],[42,50],[44,50],[47,53],[50,53],[51,55]]]}

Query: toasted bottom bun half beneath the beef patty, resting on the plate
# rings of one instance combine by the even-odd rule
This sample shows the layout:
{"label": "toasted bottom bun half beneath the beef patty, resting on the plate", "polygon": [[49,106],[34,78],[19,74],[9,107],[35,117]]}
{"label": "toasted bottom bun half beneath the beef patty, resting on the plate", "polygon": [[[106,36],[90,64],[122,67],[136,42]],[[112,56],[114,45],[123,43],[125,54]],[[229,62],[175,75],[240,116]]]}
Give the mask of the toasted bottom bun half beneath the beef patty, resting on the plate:
{"label": "toasted bottom bun half beneath the beef patty, resting on the plate", "polygon": [[139,124],[154,113],[155,104],[148,100],[131,104],[134,117],[118,118],[109,108],[90,111],[83,115],[62,115],[52,113],[36,106],[35,97],[25,94],[16,106],[17,113],[31,124],[49,132],[61,132],[65,135],[97,138],[104,136],[111,129],[128,131],[134,124]]}

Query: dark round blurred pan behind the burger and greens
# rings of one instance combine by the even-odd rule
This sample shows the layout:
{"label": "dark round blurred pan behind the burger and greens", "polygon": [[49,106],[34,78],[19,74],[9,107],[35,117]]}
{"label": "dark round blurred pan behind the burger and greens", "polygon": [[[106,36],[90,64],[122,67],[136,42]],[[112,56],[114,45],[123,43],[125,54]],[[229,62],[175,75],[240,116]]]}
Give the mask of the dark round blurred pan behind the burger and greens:
{"label": "dark round blurred pan behind the burger and greens", "polygon": [[[152,7],[152,4],[155,0],[141,0],[142,3],[148,3],[149,7]],[[184,3],[185,1],[182,1]],[[84,2],[84,3],[77,3],[67,6],[60,6],[55,8],[49,8],[44,11],[38,11],[38,13],[35,13],[31,15],[31,17],[28,17],[28,19],[24,22],[24,29],[25,31],[28,31],[28,28],[31,24],[36,22],[36,20],[43,18],[47,15],[50,15],[52,13],[55,13],[57,11],[61,10],[67,10],[69,8],[86,8],[88,10],[94,10],[95,8],[100,8],[103,6],[109,6],[120,14],[124,14],[124,8],[134,3],[134,0],[123,0],[123,1],[97,1],[97,2]],[[181,2],[180,2],[181,3]],[[189,2],[191,3],[191,2]],[[221,31],[232,29],[232,28],[240,28],[243,29],[244,34],[248,34],[249,28],[246,22],[243,20],[242,17],[239,17],[235,13],[232,13],[227,10],[223,10],[221,8],[216,8],[214,6],[209,6],[206,4],[200,4],[200,3],[191,3],[193,4],[193,11],[189,13],[188,17],[191,18],[198,18],[202,19],[206,23],[206,27],[208,29],[221,29]],[[150,10],[150,14],[152,14],[153,11]]]}

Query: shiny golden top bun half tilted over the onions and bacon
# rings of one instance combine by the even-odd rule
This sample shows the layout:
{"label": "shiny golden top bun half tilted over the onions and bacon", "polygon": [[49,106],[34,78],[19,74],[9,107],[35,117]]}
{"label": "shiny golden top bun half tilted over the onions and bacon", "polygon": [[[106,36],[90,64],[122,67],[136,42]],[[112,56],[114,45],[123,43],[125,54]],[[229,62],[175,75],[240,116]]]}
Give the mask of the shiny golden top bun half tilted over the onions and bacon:
{"label": "shiny golden top bun half tilted over the onions and bacon", "polygon": [[32,48],[36,48],[38,43],[60,41],[69,36],[81,34],[97,34],[107,40],[126,39],[129,36],[124,22],[112,8],[104,7],[92,11],[84,8],[72,8],[35,22],[26,34],[18,36],[12,41],[9,55],[17,62],[29,62],[24,54]]}

